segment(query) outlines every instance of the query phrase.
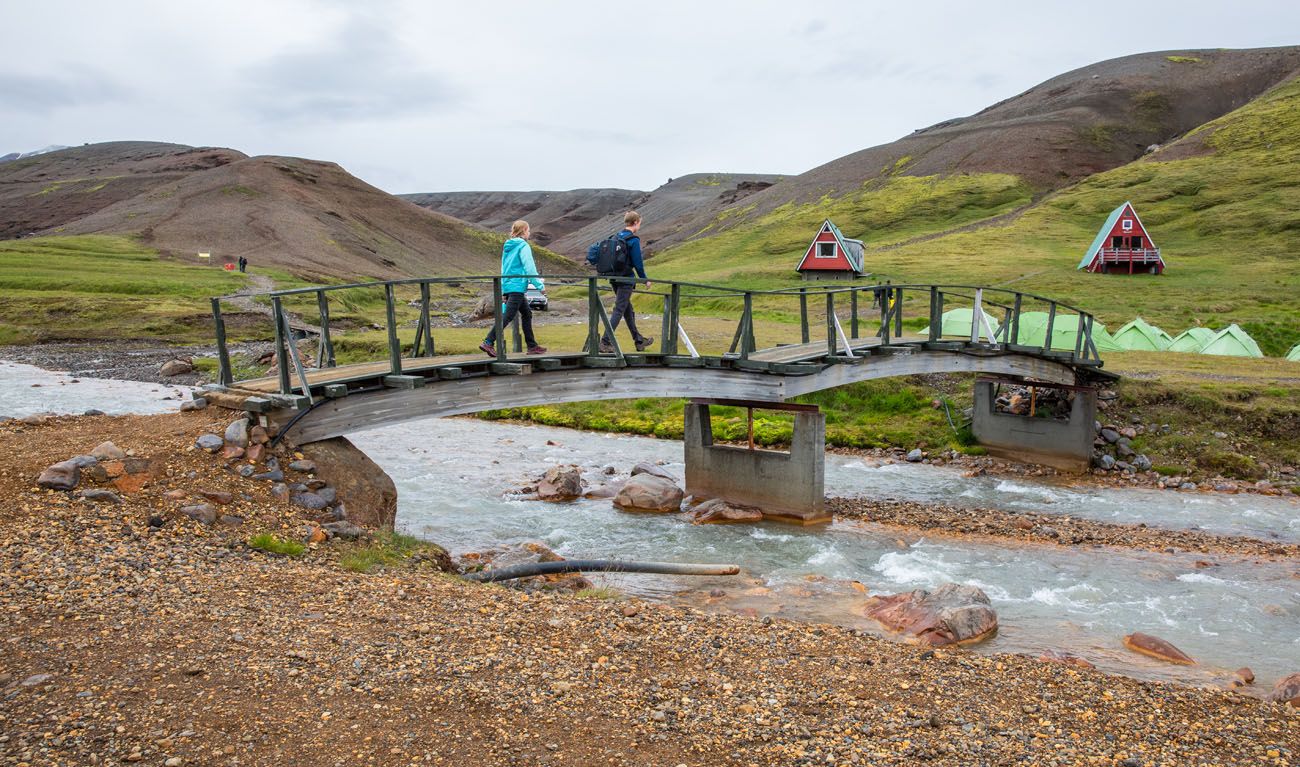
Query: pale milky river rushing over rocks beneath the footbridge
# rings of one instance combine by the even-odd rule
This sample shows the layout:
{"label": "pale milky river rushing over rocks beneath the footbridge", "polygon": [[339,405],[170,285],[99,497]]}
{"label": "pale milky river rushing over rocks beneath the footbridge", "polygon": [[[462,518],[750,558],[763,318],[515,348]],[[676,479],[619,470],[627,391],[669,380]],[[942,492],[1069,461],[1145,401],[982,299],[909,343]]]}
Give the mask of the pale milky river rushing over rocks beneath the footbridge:
{"label": "pale milky river rushing over rocks beneath the footbridge", "polygon": [[[40,384],[31,387],[31,384]],[[75,393],[68,393],[75,390]],[[176,389],[82,380],[0,363],[0,415],[159,412],[176,407]],[[662,462],[684,473],[680,442],[477,421],[432,419],[360,433],[354,442],[398,485],[400,528],[454,552],[542,541],[566,556],[733,562],[729,578],[618,575],[620,592],[703,610],[828,621],[878,632],[862,616],[863,594],[978,585],[997,610],[997,637],[976,651],[1039,654],[1061,649],[1100,668],[1147,679],[1222,681],[1251,666],[1261,686],[1300,671],[1300,563],[1254,563],[1204,555],[1117,549],[993,545],[900,538],[863,523],[796,528],[780,524],[692,525],[680,515],[615,510],[608,500],[566,504],[529,500],[515,490],[547,467],[573,463],[589,485],[634,463]],[[827,493],[1069,514],[1158,526],[1300,538],[1300,504],[1283,498],[1095,489],[1030,478],[962,477],[945,467],[875,464],[827,458]],[[1169,640],[1201,662],[1176,667],[1121,646],[1141,630]]]}

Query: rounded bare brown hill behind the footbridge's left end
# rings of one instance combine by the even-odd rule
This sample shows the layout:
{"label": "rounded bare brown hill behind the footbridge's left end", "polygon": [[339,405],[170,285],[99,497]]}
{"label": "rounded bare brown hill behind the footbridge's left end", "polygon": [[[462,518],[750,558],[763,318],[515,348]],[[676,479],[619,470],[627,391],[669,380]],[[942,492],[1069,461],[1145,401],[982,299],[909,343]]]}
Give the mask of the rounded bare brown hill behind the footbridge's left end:
{"label": "rounded bare brown hill behind the footbridge's left end", "polygon": [[334,162],[272,156],[191,173],[60,233],[138,233],[162,252],[244,256],[338,278],[490,273],[499,248],[499,238],[400,200]]}

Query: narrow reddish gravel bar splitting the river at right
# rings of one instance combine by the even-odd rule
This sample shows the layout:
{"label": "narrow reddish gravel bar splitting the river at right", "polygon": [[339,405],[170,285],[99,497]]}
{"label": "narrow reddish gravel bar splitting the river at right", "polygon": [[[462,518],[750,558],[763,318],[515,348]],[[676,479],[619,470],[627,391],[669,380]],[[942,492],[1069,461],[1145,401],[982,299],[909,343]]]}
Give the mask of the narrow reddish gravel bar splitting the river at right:
{"label": "narrow reddish gravel bar splitting the river at right", "polygon": [[[1270,559],[1300,558],[1300,543],[1205,530],[1152,528],[1145,524],[1123,525],[1065,515],[868,498],[828,498],[827,507],[840,519],[952,537],[1010,538],[1058,546],[1121,546],[1145,551],[1191,551]],[[1213,563],[1205,562],[1205,567],[1213,567]]]}

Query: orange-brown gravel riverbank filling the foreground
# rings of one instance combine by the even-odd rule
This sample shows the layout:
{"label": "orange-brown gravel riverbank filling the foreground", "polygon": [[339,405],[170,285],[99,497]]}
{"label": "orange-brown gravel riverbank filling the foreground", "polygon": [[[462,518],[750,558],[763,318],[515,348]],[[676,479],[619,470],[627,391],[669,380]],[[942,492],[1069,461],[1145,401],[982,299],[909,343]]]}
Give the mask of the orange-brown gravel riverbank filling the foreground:
{"label": "orange-brown gravel riverbank filling the foreground", "polygon": [[[0,425],[0,763],[1294,764],[1300,711],[828,625],[339,567],[190,450],[212,413]],[[113,439],[121,503],[35,488]],[[238,526],[178,514],[230,493]],[[172,497],[168,493],[173,493]],[[151,525],[150,517],[161,524]]]}

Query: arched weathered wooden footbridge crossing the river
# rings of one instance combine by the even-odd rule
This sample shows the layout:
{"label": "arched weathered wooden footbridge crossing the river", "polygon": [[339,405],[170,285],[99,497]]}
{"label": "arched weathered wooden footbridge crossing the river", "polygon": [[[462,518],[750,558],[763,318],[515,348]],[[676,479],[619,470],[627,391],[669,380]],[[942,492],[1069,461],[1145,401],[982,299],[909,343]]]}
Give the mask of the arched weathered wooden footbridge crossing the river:
{"label": "arched weathered wooden footbridge crossing the river", "polygon": [[[306,443],[420,417],[560,402],[667,396],[780,403],[855,381],[916,373],[984,373],[1063,386],[1102,376],[1089,313],[1031,294],[952,285],[738,290],[655,282],[654,290],[638,289],[636,295],[638,317],[647,306],[659,311],[655,346],[630,352],[616,338],[612,351],[602,352],[599,339],[610,329],[604,309],[610,280],[547,276],[552,296],[567,295],[578,306],[585,300],[585,341],[571,350],[524,355],[517,326],[514,343],[502,326],[502,280],[399,280],[268,292],[276,365],[268,377],[243,381],[233,377],[224,299],[214,298],[220,377],[209,389],[221,404],[261,413],[273,430]],[[495,359],[437,351],[432,290],[467,287],[493,291]],[[330,309],[343,291],[382,294],[385,359],[335,364],[339,330],[332,328]],[[286,303],[318,315],[313,354],[294,341]],[[689,311],[693,303],[702,307],[699,312]],[[968,335],[945,337],[944,312],[962,307],[975,320]],[[1048,315],[1040,346],[1017,343],[1020,316],[1031,309]],[[731,316],[718,317],[719,312]],[[413,316],[403,322],[400,313]],[[696,343],[688,332],[705,321],[715,329],[734,324],[731,343]],[[1076,330],[1074,347],[1052,348],[1054,328],[1066,324]]]}

